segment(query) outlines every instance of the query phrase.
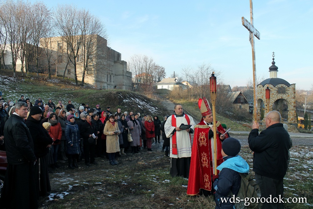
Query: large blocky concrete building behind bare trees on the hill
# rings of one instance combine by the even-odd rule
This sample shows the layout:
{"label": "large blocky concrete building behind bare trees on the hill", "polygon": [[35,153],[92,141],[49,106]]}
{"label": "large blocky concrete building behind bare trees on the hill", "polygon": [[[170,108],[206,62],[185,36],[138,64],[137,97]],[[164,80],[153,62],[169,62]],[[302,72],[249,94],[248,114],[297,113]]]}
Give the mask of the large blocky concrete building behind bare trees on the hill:
{"label": "large blocky concrete building behind bare trees on the hill", "polygon": [[[74,65],[69,61],[72,57],[69,55],[71,44],[67,44],[64,37],[51,37],[41,39],[41,46],[47,39],[51,43],[53,74],[63,76],[65,73],[65,77],[74,79]],[[84,76],[85,83],[100,89],[131,90],[131,72],[127,71],[126,61],[121,60],[121,53],[108,47],[107,40],[99,35],[90,35],[88,39],[90,42],[85,44],[72,44],[75,48],[79,47],[75,59],[78,81],[82,81]],[[84,45],[90,46],[88,53]],[[46,56],[41,56],[40,65],[43,71],[47,71]]]}

